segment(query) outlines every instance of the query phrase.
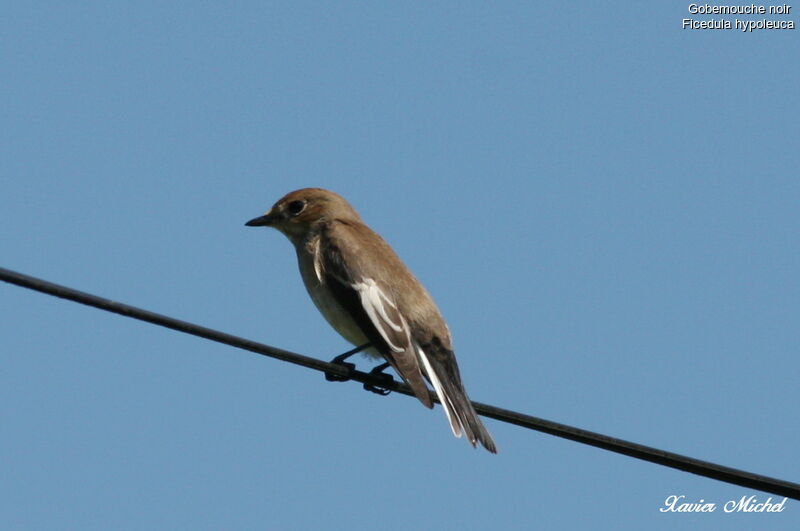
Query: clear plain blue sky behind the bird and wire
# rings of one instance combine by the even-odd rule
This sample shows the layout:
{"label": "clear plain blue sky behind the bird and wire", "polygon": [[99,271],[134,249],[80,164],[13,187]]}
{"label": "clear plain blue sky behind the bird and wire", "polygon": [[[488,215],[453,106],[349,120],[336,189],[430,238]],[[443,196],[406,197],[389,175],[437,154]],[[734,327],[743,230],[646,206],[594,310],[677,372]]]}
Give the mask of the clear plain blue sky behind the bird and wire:
{"label": "clear plain blue sky behind the bird and wire", "polygon": [[[291,246],[243,224],[330,188],[473,399],[797,482],[798,34],[687,5],[9,4],[0,265],[327,359]],[[6,284],[0,352],[7,529],[800,526],[661,514],[767,495],[488,420],[491,456],[438,408]]]}

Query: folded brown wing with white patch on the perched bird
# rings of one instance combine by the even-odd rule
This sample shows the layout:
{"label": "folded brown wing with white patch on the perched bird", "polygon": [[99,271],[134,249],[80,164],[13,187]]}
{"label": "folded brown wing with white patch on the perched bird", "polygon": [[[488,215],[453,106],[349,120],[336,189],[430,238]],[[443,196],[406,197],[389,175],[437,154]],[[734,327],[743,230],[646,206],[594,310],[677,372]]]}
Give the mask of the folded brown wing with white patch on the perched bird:
{"label": "folded brown wing with white patch on the perched bird", "polygon": [[320,250],[320,281],[328,285],[370,344],[408,383],[420,402],[433,407],[410,327],[383,280],[387,272],[371,265],[381,263],[377,256],[370,255],[381,249],[362,239],[354,241],[350,237],[343,245],[335,233],[327,236]]}

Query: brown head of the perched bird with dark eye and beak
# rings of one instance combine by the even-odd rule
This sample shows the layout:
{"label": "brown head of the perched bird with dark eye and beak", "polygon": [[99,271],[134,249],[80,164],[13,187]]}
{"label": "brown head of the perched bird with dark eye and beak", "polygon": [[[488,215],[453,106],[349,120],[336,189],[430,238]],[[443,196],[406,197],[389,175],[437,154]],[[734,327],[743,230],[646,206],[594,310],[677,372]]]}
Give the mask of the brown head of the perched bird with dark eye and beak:
{"label": "brown head of the perched bird with dark eye and beak", "polygon": [[359,216],[340,195],[322,188],[303,188],[278,199],[266,214],[245,225],[273,227],[294,241],[333,219],[358,221]]}

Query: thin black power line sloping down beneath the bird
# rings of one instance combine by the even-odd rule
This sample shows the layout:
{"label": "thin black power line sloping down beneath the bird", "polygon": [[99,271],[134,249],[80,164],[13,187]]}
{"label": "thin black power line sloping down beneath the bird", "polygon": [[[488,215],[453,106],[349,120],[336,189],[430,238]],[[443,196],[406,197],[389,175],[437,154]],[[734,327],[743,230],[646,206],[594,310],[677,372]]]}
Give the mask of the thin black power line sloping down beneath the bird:
{"label": "thin black power line sloping down beneath the bird", "polygon": [[[22,273],[17,273],[16,271],[11,271],[1,267],[0,280],[21,286],[23,288],[28,288],[46,293],[48,295],[53,295],[55,297],[60,297],[62,299],[86,304],[88,306],[108,312],[118,313],[133,319],[139,319],[140,321],[146,321],[148,323],[171,328],[186,334],[199,336],[211,341],[216,341],[218,343],[224,343],[232,347],[249,350],[250,352],[255,352],[256,354],[261,354],[263,356],[269,356],[282,361],[288,361],[289,363],[294,363],[309,369],[321,371],[328,375],[351,379],[364,384],[390,389],[404,395],[414,396],[414,394],[411,392],[411,389],[404,383],[394,380],[387,381],[386,379],[381,378],[379,375],[370,374],[355,369],[348,369],[340,364],[329,363],[316,358],[311,358],[309,356],[303,356],[302,354],[296,354],[287,350],[271,347],[263,343],[258,343],[249,339],[226,334],[218,330],[213,330],[204,326],[199,326],[186,321],[181,321],[179,319],[174,319],[172,317],[167,317],[165,315],[143,310],[141,308],[129,306],[121,302],[104,299],[90,293],[85,293],[68,288],[66,286],[47,282],[45,280],[24,275]],[[600,433],[582,430],[580,428],[559,424],[557,422],[533,417],[531,415],[525,415],[516,411],[502,409],[488,404],[482,404],[480,402],[473,402],[473,405],[475,406],[475,410],[484,417],[493,418],[501,422],[516,424],[517,426],[522,426],[523,428],[548,433],[550,435],[555,435],[571,441],[588,444],[590,446],[595,446],[597,448],[602,448],[618,454],[635,457],[636,459],[642,459],[644,461],[650,461],[651,463],[683,470],[685,472],[691,472],[692,474],[717,479],[719,481],[732,483],[741,487],[752,488],[777,494],[779,496],[786,496],[787,498],[800,500],[800,485],[797,483],[770,478],[760,474],[753,474],[751,472],[745,472],[744,470],[717,465],[708,461],[701,461],[685,455],[659,450],[658,448],[636,444],[630,441],[602,435]]]}

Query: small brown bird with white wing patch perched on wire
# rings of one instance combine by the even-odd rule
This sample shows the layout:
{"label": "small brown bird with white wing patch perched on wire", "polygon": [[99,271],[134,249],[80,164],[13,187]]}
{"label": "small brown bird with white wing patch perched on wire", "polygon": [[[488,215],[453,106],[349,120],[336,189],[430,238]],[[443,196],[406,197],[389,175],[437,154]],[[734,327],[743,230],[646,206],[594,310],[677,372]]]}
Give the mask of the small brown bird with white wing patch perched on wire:
{"label": "small brown bird with white wing patch perched on wire", "polygon": [[295,190],[245,225],[277,229],[294,245],[311,300],[359,347],[335,360],[359,350],[384,359],[376,369],[390,365],[423,405],[433,408],[436,395],[453,435],[497,453],[461,382],[450,330],[433,298],[342,196]]}

